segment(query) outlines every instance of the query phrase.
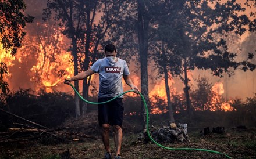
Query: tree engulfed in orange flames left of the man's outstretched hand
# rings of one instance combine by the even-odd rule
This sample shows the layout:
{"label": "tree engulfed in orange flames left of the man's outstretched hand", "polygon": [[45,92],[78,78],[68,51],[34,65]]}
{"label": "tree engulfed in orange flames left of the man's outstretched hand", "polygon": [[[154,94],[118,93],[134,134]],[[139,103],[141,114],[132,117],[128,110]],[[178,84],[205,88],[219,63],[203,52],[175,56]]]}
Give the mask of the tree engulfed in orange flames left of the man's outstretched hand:
{"label": "tree engulfed in orange flames left of the man's outstretched hand", "polygon": [[62,28],[52,24],[52,21],[29,26],[28,36],[20,52],[23,52],[21,59],[24,61],[31,55],[37,59],[30,68],[30,81],[37,85],[35,91],[52,92],[51,88],[62,82],[64,75],[74,72],[72,56],[66,51],[68,41],[61,31]]}

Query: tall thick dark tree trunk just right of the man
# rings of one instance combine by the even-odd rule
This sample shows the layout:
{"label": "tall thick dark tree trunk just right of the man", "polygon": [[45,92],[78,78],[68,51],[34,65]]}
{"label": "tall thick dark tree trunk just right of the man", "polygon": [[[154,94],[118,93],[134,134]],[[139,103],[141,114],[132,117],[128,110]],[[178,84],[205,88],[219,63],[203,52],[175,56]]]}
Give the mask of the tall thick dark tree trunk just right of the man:
{"label": "tall thick dark tree trunk just right of the man", "polygon": [[[147,105],[149,106],[148,97],[148,28],[150,19],[145,10],[145,1],[137,0],[138,3],[138,43],[139,43],[139,54],[140,54],[140,74],[141,74],[141,93],[145,97]],[[149,109],[150,110],[150,107]],[[141,116],[146,121],[144,103],[141,100]],[[145,123],[145,122],[143,122]],[[145,128],[145,124],[143,125]]]}

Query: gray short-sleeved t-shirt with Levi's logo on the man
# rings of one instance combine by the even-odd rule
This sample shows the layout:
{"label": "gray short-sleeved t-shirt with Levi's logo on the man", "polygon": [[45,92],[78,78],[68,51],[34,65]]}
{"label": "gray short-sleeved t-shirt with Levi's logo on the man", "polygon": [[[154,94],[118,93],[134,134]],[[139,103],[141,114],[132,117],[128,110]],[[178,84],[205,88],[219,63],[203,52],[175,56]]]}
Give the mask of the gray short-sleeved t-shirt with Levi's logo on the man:
{"label": "gray short-sleeved t-shirt with Levi's logo on the man", "polygon": [[[97,60],[91,70],[99,74],[98,97],[116,97],[123,93],[123,75],[129,75],[129,68],[125,60],[119,59],[115,63],[105,57]],[[120,96],[120,97],[123,97]]]}

